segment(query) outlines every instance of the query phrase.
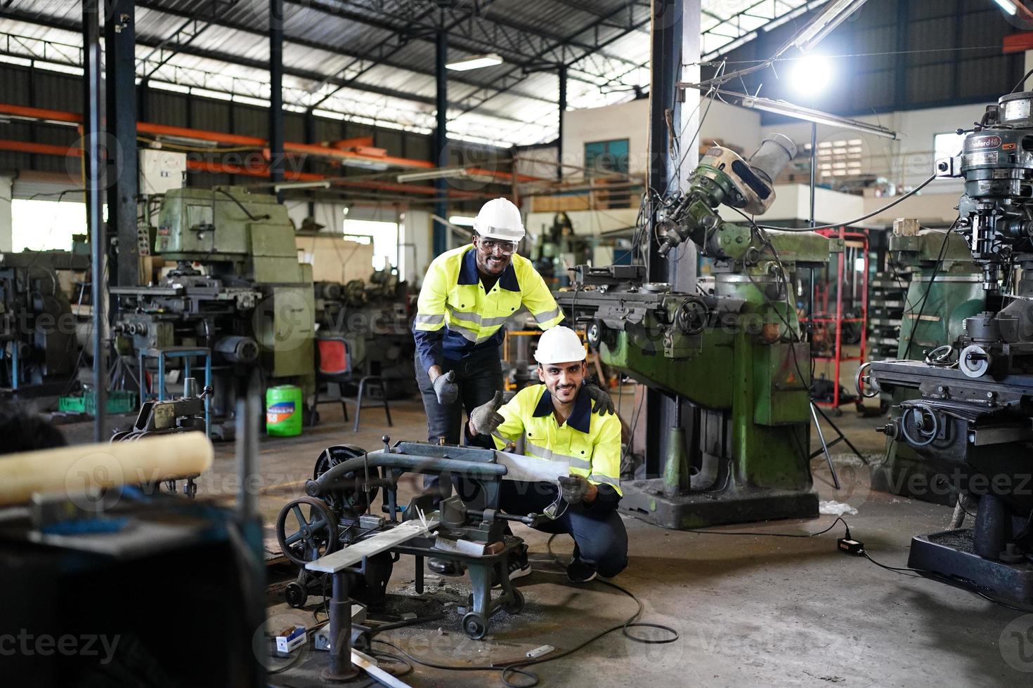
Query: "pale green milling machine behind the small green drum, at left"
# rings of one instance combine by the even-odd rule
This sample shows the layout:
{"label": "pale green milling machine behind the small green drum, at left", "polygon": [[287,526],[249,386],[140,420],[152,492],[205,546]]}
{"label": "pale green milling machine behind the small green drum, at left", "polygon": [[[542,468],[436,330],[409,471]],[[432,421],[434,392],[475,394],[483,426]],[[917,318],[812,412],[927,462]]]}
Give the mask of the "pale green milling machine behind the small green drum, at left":
{"label": "pale green milling machine behind the small green drum, at left", "polygon": [[120,355],[150,369],[162,351],[210,350],[213,429],[227,439],[232,423],[219,420],[232,418],[249,385],[314,393],[312,268],[299,262],[293,225],[275,196],[240,187],[168,191],[154,251],[178,262],[161,284],[111,289]]}

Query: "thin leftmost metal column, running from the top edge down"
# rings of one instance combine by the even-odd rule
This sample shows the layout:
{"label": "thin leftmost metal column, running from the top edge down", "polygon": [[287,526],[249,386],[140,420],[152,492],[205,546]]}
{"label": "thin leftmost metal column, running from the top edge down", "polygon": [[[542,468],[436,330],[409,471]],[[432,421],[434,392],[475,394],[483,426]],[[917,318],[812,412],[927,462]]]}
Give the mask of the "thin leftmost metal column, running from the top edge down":
{"label": "thin leftmost metal column, running from the top edge down", "polygon": [[[104,340],[104,256],[107,236],[101,222],[103,176],[106,153],[101,145],[101,0],[83,0],[83,164],[86,188],[86,224],[93,254],[91,301],[93,305],[93,393],[97,415],[93,419],[93,440],[107,439],[104,415],[107,409],[107,348]],[[135,149],[135,145],[133,146]]]}

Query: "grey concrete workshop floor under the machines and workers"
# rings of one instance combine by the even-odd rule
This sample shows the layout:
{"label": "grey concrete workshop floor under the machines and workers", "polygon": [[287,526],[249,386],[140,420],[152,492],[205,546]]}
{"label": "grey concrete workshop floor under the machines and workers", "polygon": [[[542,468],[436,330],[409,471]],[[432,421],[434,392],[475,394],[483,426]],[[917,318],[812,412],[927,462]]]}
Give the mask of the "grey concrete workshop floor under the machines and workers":
{"label": "grey concrete workshop floor under the machines and workers", "polygon": [[[845,407],[837,419],[862,451],[878,455],[882,435],[877,419],[860,419]],[[320,450],[331,444],[378,448],[384,433],[382,412],[364,411],[363,429],[344,427],[340,407],[322,406],[323,423],[299,438],[269,438],[261,445],[262,494],[267,527],[280,507],[302,494]],[[392,404],[397,439],[425,437],[426,418],[418,400]],[[70,436],[80,432],[69,427]],[[840,450],[843,445],[837,448]],[[871,492],[867,470],[840,455],[844,487],[829,483],[823,460],[815,460],[815,485],[822,499],[847,501],[852,535],[879,561],[902,566],[911,535],[943,529],[944,506]],[[215,468],[202,477],[200,493],[231,495],[236,490],[232,447],[217,449]],[[807,533],[834,517],[780,521],[725,530]],[[884,570],[836,550],[842,528],[813,538],[715,535],[662,530],[626,519],[630,564],[616,582],[637,595],[643,619],[678,630],[667,645],[633,643],[618,631],[577,654],[534,667],[552,686],[1002,686],[1033,685],[1033,658],[1023,654],[1023,636],[1033,638],[1033,615],[1023,615],[969,592],[921,578]],[[531,547],[535,572],[520,581],[527,607],[519,617],[500,613],[489,637],[468,640],[460,617],[448,613],[430,628],[385,633],[390,642],[420,658],[473,666],[522,657],[540,645],[569,649],[600,629],[623,622],[634,602],[599,584],[574,587],[545,551],[545,536],[523,526],[516,534]],[[566,536],[556,539],[569,553]],[[389,592],[412,594],[411,560],[396,565]],[[466,579],[446,579],[433,597],[462,599]],[[274,600],[275,601],[275,600]],[[270,608],[271,625],[311,625],[311,609]],[[453,610],[455,607],[448,608]],[[650,629],[638,632],[653,637]],[[384,646],[376,646],[386,650]],[[289,669],[271,677],[278,685],[320,685],[315,676],[325,654],[312,652]],[[1025,669],[1025,671],[1023,670]],[[513,679],[521,682],[520,677]],[[453,673],[419,666],[404,678],[414,686],[501,685],[498,671]],[[356,684],[363,685],[363,683]]]}

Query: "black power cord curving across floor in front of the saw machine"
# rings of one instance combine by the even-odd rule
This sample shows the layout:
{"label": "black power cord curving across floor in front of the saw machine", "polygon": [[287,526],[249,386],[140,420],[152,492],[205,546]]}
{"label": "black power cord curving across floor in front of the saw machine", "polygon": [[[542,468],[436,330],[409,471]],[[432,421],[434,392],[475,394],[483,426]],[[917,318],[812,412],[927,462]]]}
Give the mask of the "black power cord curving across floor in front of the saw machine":
{"label": "black power cord curving across floor in front of the saw machine", "polygon": [[[546,547],[549,549],[549,553],[553,555],[554,560],[562,565],[558,557],[556,557],[556,555],[553,554],[552,544],[554,537],[556,537],[555,534],[549,538]],[[608,588],[613,588],[619,592],[624,593],[625,595],[627,595],[628,597],[630,597],[635,601],[635,604],[637,604],[638,609],[636,609],[635,613],[632,614],[630,617],[628,617],[627,620],[624,621],[623,623],[619,623],[615,626],[606,628],[605,630],[599,631],[598,633],[591,636],[587,641],[580,643],[578,645],[570,648],[569,650],[563,650],[555,654],[550,654],[542,657],[534,657],[531,659],[521,658],[510,661],[499,661],[499,662],[493,662],[491,664],[481,664],[481,665],[439,664],[437,662],[432,662],[425,659],[419,659],[418,657],[414,657],[413,655],[409,654],[402,648],[398,647],[397,645],[388,641],[381,641],[378,638],[374,638],[373,642],[385,645],[394,649],[405,659],[414,662],[416,664],[420,664],[422,666],[441,669],[444,671],[501,671],[500,679],[502,680],[502,683],[505,684],[508,688],[532,688],[533,686],[538,685],[539,679],[536,674],[529,671],[527,667],[533,666],[535,664],[544,664],[545,662],[551,662],[557,659],[562,659],[563,657],[568,657],[574,654],[575,652],[583,650],[589,645],[592,645],[593,643],[600,640],[604,635],[613,633],[614,631],[620,630],[624,634],[624,636],[627,637],[628,640],[633,641],[635,643],[643,643],[646,645],[663,645],[667,643],[674,643],[675,641],[681,637],[678,631],[671,628],[670,626],[664,626],[658,623],[638,621],[638,618],[641,617],[644,608],[641,600],[638,599],[638,597],[636,597],[634,593],[609,581],[602,581],[596,579],[595,583],[604,585]],[[661,637],[661,638],[643,637],[641,635],[635,635],[634,633],[630,632],[631,629],[633,628],[656,628],[658,630],[670,633],[670,637]],[[513,675],[518,674],[527,677],[529,681],[527,683],[513,683],[512,682],[512,679],[514,678]]]}

